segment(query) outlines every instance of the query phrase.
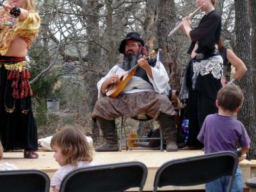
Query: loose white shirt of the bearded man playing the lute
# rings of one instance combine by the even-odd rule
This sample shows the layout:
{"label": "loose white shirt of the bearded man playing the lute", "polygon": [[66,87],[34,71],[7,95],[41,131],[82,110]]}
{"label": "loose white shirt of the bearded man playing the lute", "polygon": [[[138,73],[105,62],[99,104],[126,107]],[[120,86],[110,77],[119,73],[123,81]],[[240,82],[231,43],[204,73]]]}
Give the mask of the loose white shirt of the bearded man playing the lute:
{"label": "loose white shirt of the bearded man playing the lute", "polygon": [[[150,66],[151,67],[151,66]],[[140,77],[132,76],[131,80],[125,86],[121,93],[136,93],[136,92],[157,92],[159,94],[168,95],[170,86],[168,84],[169,77],[164,68],[163,63],[160,61],[156,62],[155,67],[151,67],[153,79],[147,74],[150,83],[141,79]],[[102,97],[101,86],[112,74],[122,74],[125,70],[118,65],[115,65],[105,77],[102,77],[97,83],[98,88],[98,99]],[[153,86],[152,86],[153,85]]]}

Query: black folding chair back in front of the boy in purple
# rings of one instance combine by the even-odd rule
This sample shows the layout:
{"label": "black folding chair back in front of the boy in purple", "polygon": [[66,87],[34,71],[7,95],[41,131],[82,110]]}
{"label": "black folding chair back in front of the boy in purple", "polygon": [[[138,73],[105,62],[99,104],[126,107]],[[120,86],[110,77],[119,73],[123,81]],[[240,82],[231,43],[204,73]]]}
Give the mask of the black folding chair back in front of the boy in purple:
{"label": "black folding chair back in front of the boy in purple", "polygon": [[216,152],[203,156],[176,159],[164,163],[156,172],[154,191],[163,186],[194,186],[230,175],[231,190],[238,164],[233,152]]}

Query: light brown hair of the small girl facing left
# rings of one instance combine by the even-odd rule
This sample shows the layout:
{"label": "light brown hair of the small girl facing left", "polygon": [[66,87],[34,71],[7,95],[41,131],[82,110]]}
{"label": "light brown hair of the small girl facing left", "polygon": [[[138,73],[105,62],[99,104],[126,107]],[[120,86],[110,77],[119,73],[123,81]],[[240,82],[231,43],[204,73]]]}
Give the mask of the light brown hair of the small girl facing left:
{"label": "light brown hair of the small girl facing left", "polygon": [[76,165],[79,161],[92,161],[92,148],[83,132],[71,126],[65,126],[52,136],[51,147],[58,146],[65,157],[66,164]]}

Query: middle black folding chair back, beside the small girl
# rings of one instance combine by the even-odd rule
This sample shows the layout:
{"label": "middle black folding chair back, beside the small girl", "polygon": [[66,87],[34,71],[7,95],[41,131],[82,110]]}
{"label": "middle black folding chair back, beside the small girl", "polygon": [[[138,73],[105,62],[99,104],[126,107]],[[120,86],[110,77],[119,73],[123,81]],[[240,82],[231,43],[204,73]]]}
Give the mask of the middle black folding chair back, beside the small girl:
{"label": "middle black folding chair back, beside the small girl", "polygon": [[61,182],[60,192],[143,190],[147,167],[140,162],[104,164],[79,168],[68,173]]}

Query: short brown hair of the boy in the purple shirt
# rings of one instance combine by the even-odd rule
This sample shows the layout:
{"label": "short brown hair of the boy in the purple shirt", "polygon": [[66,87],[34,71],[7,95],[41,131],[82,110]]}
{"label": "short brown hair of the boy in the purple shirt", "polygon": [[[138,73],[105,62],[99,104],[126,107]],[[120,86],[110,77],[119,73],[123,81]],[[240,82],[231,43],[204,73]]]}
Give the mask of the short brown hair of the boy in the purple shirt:
{"label": "short brown hair of the boy in the purple shirt", "polygon": [[227,84],[219,90],[217,100],[221,108],[234,111],[237,107],[242,106],[244,94],[236,84]]}

